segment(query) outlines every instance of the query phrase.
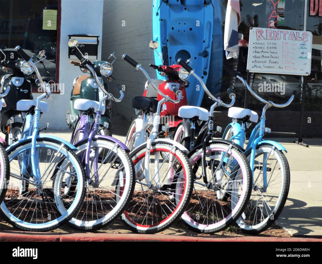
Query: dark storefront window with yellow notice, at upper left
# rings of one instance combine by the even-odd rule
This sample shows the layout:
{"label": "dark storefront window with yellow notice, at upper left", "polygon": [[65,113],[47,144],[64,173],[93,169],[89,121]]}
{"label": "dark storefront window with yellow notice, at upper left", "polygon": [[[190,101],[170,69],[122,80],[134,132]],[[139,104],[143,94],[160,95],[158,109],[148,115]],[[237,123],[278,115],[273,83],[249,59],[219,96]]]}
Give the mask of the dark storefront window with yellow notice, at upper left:
{"label": "dark storefront window with yellow notice, at upper left", "polygon": [[[16,60],[19,55],[14,48],[19,45],[24,51],[33,56],[40,50],[45,50],[47,56],[38,66],[44,81],[56,81],[56,46],[57,46],[57,15],[44,23],[48,12],[56,10],[58,0],[2,0],[0,8],[0,44],[5,44],[7,59]],[[45,14],[45,17],[44,17]],[[51,17],[53,17],[51,15]],[[2,54],[1,54],[2,55]],[[2,55],[3,57],[3,55]],[[1,57],[1,59],[3,59]],[[0,69],[0,77],[5,73]],[[37,85],[32,82],[33,92],[37,92]]]}

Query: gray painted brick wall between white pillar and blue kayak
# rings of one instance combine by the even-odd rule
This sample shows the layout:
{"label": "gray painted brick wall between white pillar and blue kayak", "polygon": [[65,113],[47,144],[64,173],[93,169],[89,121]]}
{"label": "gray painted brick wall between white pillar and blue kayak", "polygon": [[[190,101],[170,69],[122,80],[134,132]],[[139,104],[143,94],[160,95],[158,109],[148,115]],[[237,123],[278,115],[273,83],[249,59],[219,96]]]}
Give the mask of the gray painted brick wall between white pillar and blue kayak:
{"label": "gray painted brick wall between white pillar and blue kayak", "polygon": [[[125,26],[122,26],[123,21]],[[148,47],[151,40],[152,0],[104,1],[102,60],[107,60],[115,52],[117,60],[113,64],[112,76],[116,80],[113,83],[125,85],[126,88],[124,99],[117,103],[117,111],[129,120],[136,117],[131,106],[132,98],[143,94],[147,79],[143,73],[122,60],[122,55],[128,54],[142,64],[152,78],[156,78],[155,70],[148,67],[149,63],[154,63],[153,50]],[[111,92],[114,91],[111,89]],[[115,111],[114,103],[112,106]]]}

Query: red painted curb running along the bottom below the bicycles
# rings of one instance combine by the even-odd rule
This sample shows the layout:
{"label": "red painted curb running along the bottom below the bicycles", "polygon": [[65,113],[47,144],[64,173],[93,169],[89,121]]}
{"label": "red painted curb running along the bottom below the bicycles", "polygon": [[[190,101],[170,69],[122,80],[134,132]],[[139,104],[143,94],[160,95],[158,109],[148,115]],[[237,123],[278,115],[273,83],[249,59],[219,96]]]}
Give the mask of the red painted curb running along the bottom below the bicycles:
{"label": "red painted curb running along the bottom below the bicycles", "polygon": [[205,236],[181,236],[181,235],[145,235],[145,234],[113,234],[113,233],[74,233],[55,234],[37,232],[2,232],[0,241],[163,241],[163,242],[318,242],[318,238],[297,237],[205,237]]}

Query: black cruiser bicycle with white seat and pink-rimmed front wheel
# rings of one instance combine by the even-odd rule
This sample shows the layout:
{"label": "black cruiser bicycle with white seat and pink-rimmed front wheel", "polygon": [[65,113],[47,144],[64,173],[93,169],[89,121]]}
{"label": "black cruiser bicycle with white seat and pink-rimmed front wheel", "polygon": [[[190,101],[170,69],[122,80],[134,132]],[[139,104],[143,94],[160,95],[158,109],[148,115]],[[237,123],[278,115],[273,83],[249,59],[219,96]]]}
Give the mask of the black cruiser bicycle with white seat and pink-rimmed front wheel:
{"label": "black cruiser bicycle with white seat and pink-rimmed front wheel", "polygon": [[[194,174],[194,191],[186,211],[182,215],[185,224],[192,230],[213,233],[224,230],[242,214],[251,193],[250,167],[241,147],[229,140],[213,139],[213,111],[217,106],[231,107],[235,94],[227,90],[230,103],[214,97],[202,79],[183,60],[178,64],[193,75],[207,95],[214,101],[210,111],[196,106],[182,106],[179,116],[190,120],[190,137],[178,127],[174,139],[182,144],[190,142],[187,154]],[[194,136],[195,123],[206,122],[204,130]]]}

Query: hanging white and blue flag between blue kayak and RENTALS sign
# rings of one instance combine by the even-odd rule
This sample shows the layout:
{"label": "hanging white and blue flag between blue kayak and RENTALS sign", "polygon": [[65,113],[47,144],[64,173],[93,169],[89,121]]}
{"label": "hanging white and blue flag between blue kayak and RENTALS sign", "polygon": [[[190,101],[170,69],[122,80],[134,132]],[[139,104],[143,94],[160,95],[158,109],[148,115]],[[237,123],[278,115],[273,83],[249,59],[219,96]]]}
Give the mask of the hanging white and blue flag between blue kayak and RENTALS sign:
{"label": "hanging white and blue flag between blue kayak and RENTALS sign", "polygon": [[233,57],[238,52],[238,26],[241,23],[241,9],[239,0],[228,0],[225,20],[225,33],[223,37],[226,58]]}

